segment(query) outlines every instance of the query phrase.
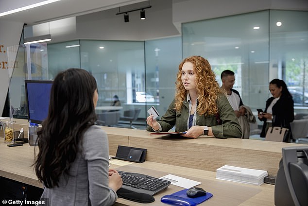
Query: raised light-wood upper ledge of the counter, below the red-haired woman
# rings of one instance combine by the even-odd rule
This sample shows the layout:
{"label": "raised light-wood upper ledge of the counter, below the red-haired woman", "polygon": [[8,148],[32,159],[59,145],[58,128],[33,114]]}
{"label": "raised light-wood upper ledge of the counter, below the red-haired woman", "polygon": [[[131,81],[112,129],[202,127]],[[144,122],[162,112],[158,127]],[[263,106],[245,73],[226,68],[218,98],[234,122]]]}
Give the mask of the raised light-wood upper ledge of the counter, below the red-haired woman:
{"label": "raised light-wood upper ledge of the counter, below the red-haired woman", "polygon": [[[24,128],[28,133],[28,120],[16,120],[15,131]],[[218,139],[201,136],[150,136],[145,130],[102,127],[109,139],[109,154],[116,155],[118,145],[146,148],[146,160],[163,164],[216,172],[223,165],[266,170],[276,175],[281,159],[281,148],[305,146],[303,144],[271,142],[254,139]],[[2,136],[0,136],[2,137]],[[194,161],[191,161],[193,159]],[[172,160],[172,161],[170,161]],[[197,164],[196,164],[197,162]]]}

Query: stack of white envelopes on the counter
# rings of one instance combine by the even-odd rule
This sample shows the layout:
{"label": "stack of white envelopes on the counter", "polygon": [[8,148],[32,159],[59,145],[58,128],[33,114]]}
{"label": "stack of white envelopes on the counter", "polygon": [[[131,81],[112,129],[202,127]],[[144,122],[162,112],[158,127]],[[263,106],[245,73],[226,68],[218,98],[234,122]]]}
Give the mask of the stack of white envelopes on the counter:
{"label": "stack of white envelopes on the counter", "polygon": [[216,170],[216,178],[253,185],[262,185],[267,171],[224,165]]}

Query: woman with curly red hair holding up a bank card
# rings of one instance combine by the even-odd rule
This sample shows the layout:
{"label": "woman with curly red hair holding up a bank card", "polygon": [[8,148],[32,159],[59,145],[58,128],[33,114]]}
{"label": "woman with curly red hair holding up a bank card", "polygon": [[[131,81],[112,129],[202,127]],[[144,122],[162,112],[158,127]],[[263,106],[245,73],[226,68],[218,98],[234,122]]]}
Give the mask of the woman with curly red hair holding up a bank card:
{"label": "woman with curly red hair holding up a bank card", "polygon": [[184,59],[175,85],[175,98],[161,120],[147,118],[148,131],[167,132],[175,125],[176,132],[186,132],[183,137],[241,137],[237,117],[205,58]]}

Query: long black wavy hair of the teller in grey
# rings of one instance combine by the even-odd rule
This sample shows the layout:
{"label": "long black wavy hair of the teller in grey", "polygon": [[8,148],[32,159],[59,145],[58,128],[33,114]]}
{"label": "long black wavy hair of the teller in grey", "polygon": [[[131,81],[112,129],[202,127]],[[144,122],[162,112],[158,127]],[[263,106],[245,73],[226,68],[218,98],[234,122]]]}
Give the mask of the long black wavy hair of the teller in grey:
{"label": "long black wavy hair of the teller in grey", "polygon": [[68,178],[83,134],[97,120],[93,103],[96,89],[95,78],[84,69],[67,69],[55,77],[34,162],[35,173],[45,187],[58,186],[62,174]]}

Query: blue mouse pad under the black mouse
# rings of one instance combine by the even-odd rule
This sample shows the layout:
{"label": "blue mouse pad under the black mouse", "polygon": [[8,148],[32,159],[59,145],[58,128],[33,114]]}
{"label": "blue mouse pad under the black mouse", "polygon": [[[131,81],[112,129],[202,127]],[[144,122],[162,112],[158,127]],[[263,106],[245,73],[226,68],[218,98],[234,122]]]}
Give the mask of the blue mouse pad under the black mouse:
{"label": "blue mouse pad under the black mouse", "polygon": [[174,206],[196,206],[213,196],[212,193],[206,192],[205,196],[190,198],[186,194],[187,190],[183,189],[173,194],[165,195],[161,198],[161,202]]}

